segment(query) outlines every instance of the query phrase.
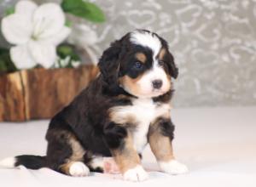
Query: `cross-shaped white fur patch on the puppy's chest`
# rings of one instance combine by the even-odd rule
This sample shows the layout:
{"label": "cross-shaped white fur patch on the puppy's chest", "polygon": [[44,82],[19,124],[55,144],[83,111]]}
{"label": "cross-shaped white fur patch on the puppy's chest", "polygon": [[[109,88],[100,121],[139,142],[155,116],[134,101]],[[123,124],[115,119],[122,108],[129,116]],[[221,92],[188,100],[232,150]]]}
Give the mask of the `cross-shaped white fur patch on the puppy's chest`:
{"label": "cross-shaped white fur patch on the puppy's chest", "polygon": [[159,116],[170,112],[170,104],[156,105],[152,99],[133,99],[132,105],[118,106],[115,108],[115,116],[125,119],[132,116],[136,119],[136,128],[131,131],[134,147],[137,152],[142,152],[148,143],[148,128],[151,122]]}

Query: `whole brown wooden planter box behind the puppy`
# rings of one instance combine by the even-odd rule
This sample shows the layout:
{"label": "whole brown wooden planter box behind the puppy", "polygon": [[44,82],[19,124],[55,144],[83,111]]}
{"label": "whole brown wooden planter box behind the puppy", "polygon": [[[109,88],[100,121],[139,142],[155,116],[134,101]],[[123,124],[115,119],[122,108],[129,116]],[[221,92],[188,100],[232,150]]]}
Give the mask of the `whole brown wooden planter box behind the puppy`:
{"label": "whole brown wooden planter box behind the puppy", "polygon": [[0,76],[0,122],[23,122],[55,115],[96,77],[94,65],[43,68]]}

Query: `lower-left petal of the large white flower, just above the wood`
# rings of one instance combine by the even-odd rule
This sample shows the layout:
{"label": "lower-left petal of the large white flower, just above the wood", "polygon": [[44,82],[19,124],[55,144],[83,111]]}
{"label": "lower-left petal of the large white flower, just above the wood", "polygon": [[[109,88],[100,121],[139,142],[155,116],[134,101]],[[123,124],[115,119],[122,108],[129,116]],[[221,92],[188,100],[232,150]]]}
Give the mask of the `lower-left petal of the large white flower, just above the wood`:
{"label": "lower-left petal of the large white flower, just above the wood", "polygon": [[29,53],[27,45],[19,45],[10,48],[10,57],[18,69],[28,69],[36,65]]}

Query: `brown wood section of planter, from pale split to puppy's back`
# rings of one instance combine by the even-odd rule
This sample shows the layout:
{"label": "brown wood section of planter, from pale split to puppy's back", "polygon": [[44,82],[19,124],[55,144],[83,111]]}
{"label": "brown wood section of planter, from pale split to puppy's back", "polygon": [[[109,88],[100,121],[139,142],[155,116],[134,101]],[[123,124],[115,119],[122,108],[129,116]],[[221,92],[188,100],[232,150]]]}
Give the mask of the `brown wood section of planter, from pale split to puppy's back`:
{"label": "brown wood section of planter, from pale split to puppy's back", "polygon": [[90,82],[93,66],[58,71],[27,71],[26,98],[30,119],[50,118]]}

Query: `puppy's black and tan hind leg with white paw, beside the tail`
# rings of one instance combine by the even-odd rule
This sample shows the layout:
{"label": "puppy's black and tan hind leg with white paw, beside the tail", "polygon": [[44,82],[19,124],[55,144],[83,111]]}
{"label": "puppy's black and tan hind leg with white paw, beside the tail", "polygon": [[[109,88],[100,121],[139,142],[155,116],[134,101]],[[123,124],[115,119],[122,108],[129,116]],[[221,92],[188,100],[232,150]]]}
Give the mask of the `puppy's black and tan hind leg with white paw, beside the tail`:
{"label": "puppy's black and tan hind leg with white paw, beside the tail", "polygon": [[46,139],[49,141],[46,156],[48,167],[75,177],[89,175],[90,170],[84,164],[85,151],[73,133],[51,129]]}

